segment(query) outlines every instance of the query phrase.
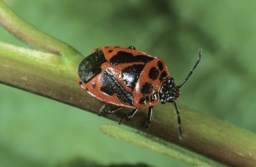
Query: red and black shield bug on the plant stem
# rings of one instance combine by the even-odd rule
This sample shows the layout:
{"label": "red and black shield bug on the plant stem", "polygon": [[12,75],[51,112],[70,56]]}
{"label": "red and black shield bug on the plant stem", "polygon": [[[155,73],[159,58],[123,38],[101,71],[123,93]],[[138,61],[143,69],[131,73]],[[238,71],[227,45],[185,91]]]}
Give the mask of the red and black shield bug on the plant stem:
{"label": "red and black shield bug on the plant stem", "polygon": [[159,101],[162,104],[172,103],[177,111],[179,138],[182,139],[181,117],[175,101],[200,60],[201,49],[199,58],[185,80],[180,85],[175,85],[161,58],[138,51],[134,46],[107,46],[92,51],[82,60],[78,66],[78,82],[93,97],[118,106],[113,110],[106,107],[108,113],[115,113],[123,107],[133,109],[128,116],[125,115],[127,120],[138,109],[148,107],[148,126],[154,105]]}

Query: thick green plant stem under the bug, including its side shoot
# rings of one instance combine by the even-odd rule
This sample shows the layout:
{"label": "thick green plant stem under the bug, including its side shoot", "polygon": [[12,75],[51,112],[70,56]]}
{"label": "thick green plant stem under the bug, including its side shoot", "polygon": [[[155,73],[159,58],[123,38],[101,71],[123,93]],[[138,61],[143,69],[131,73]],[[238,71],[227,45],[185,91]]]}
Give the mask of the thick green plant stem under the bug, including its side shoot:
{"label": "thick green plant stem under the bug, including its side shoot", "polygon": [[[0,1],[0,22],[24,42],[50,53],[0,43],[0,82],[49,97],[62,103],[98,113],[103,102],[96,100],[76,83],[76,68],[83,56],[67,44],[42,34],[22,21]],[[61,54],[57,56],[56,54]],[[228,166],[255,166],[256,135],[179,106],[183,140],[179,140],[177,117],[172,105],[157,105],[150,129],[146,129],[147,110],[129,122],[135,129],[172,142]],[[129,109],[125,109],[129,112]],[[102,116],[119,121],[123,113]]]}

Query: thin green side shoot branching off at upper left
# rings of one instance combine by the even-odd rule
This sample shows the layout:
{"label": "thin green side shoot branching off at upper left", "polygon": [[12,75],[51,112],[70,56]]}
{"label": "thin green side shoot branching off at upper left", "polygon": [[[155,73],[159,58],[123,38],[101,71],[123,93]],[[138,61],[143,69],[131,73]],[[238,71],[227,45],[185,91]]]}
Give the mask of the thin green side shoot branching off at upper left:
{"label": "thin green side shoot branching off at upper left", "polygon": [[79,55],[77,50],[68,44],[46,35],[16,15],[3,1],[0,0],[0,23],[13,36],[30,46],[40,48],[54,54],[65,56]]}

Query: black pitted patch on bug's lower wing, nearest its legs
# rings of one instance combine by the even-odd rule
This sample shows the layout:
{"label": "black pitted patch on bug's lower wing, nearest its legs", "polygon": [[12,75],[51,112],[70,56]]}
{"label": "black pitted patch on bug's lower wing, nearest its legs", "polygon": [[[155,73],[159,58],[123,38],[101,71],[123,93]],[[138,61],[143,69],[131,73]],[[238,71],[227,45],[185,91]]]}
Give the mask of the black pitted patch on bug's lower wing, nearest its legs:
{"label": "black pitted patch on bug's lower wing, nearest its legs", "polygon": [[102,82],[102,87],[100,87],[102,93],[106,93],[106,95],[110,96],[116,93],[120,101],[134,106],[133,93],[128,92],[112,74],[105,71],[100,77],[100,81]]}

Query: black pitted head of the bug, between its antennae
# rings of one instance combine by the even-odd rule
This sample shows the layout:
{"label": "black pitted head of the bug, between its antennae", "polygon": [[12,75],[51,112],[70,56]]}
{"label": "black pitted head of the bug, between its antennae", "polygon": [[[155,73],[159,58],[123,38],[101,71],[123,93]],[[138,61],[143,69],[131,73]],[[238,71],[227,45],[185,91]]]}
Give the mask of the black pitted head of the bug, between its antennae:
{"label": "black pitted head of the bug, between its antennae", "polygon": [[181,95],[180,87],[174,84],[172,77],[168,78],[159,91],[160,101],[162,104],[172,102],[179,98]]}

